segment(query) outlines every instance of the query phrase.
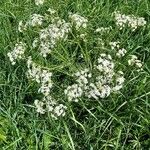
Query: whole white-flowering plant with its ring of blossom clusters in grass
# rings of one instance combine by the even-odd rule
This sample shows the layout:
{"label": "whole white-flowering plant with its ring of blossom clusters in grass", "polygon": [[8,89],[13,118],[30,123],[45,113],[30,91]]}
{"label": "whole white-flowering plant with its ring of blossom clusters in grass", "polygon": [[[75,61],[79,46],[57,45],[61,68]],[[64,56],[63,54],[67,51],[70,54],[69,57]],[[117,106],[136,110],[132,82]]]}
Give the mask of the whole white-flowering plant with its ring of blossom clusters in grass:
{"label": "whole white-flowering plant with its ring of blossom clusters in grass", "polygon": [[[35,0],[37,6],[43,3],[44,0]],[[146,21],[142,17],[124,15],[119,11],[113,13],[113,16],[114,25],[119,26],[119,30],[129,27],[134,32],[137,28],[146,25]],[[101,99],[109,98],[111,94],[119,94],[126,82],[125,70],[120,67],[124,57],[126,57],[125,65],[127,67],[136,67],[138,71],[142,71],[143,62],[135,54],[128,54],[128,49],[123,47],[120,41],[109,41],[108,43],[108,41],[100,39],[102,47],[107,51],[101,51],[90,66],[85,61],[84,65],[79,66],[77,63],[76,68],[72,71],[68,69],[68,73],[64,76],[68,82],[66,83],[65,79],[61,81],[61,90],[64,92],[63,100],[62,98],[57,99],[58,97],[55,97],[53,93],[53,89],[56,88],[53,72],[57,74],[55,68],[60,66],[55,65],[55,68],[52,69],[48,65],[41,64],[40,60],[35,61],[35,58],[46,61],[45,64],[53,64],[52,57],[55,56],[60,43],[73,49],[69,41],[73,41],[75,36],[82,43],[88,43],[89,39],[86,39],[86,36],[90,36],[90,32],[87,31],[92,28],[89,24],[88,17],[77,12],[68,12],[67,19],[64,20],[53,8],[49,8],[44,14],[33,13],[27,20],[20,20],[18,23],[18,31],[22,36],[25,33],[28,34],[29,31],[31,32],[32,29],[34,33],[31,39],[32,44],[29,45],[29,42],[22,38],[22,41],[17,42],[7,55],[12,65],[24,60],[27,66],[26,77],[28,82],[35,82],[39,87],[36,92],[42,96],[42,99],[35,99],[34,101],[37,113],[43,115],[50,113],[52,118],[57,119],[65,116],[68,103],[80,102],[82,98],[89,101],[101,101]],[[94,30],[94,34],[98,36],[109,34],[113,27],[97,27],[90,30]],[[37,56],[32,56],[32,51],[36,51]],[[65,51],[68,51],[67,54],[70,53],[69,49],[65,49]],[[81,57],[84,61],[85,57],[82,51],[84,51],[84,46],[80,45],[80,54],[76,57],[77,59]],[[92,53],[94,53],[94,50]],[[63,68],[65,66],[61,66],[61,70]],[[63,71],[61,74],[63,74]],[[71,82],[69,82],[70,78]],[[57,78],[57,80],[59,79]]]}

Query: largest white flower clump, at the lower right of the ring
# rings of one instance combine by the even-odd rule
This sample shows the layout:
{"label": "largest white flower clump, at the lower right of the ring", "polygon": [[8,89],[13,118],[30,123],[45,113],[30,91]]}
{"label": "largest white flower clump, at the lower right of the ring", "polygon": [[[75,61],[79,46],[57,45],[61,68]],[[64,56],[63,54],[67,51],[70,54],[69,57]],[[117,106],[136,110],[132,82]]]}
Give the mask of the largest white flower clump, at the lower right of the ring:
{"label": "largest white flower clump, at the lower right of the ring", "polygon": [[114,63],[110,55],[101,54],[95,69],[98,75],[94,78],[94,82],[92,80],[94,74],[89,73],[88,69],[74,74],[78,84],[68,86],[65,90],[69,101],[78,102],[81,96],[94,99],[106,98],[111,92],[119,91],[123,87],[125,80],[123,72],[114,72]]}

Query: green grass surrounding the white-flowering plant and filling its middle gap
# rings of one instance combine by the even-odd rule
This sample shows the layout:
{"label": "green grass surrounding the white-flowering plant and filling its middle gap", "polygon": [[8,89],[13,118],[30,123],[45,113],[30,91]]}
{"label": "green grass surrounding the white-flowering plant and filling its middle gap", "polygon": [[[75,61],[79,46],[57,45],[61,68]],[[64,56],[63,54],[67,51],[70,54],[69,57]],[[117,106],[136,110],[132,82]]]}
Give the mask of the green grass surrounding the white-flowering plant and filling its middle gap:
{"label": "green grass surrounding the white-flowering plant and filling its middle gap", "polygon": [[[43,13],[46,8],[58,10],[67,19],[68,12],[78,12],[89,20],[88,43],[83,47],[78,39],[71,46],[60,43],[52,56],[42,63],[54,72],[56,88],[53,95],[64,102],[68,111],[64,118],[53,120],[50,115],[39,115],[33,108],[37,90],[29,83],[25,63],[12,66],[7,53],[17,39],[31,42],[32,32],[23,37],[18,22],[32,13]],[[112,12],[142,16],[146,28],[130,32],[119,31]],[[37,7],[31,0],[0,1],[0,149],[2,150],[148,150],[150,148],[150,2],[148,0],[47,0]],[[109,35],[97,36],[94,29],[113,26]],[[136,54],[144,62],[144,70],[137,73],[128,68],[126,57],[120,67],[125,72],[125,85],[119,94],[106,99],[81,99],[67,103],[62,93],[70,74],[78,67],[89,66],[103,52],[97,38],[106,43],[119,40],[128,54]],[[81,47],[80,47],[81,46]],[[30,52],[37,58],[34,52]],[[78,60],[84,54],[84,62]],[[113,52],[110,52],[113,55]],[[36,61],[41,62],[40,58]],[[79,65],[80,64],[80,65]],[[36,88],[36,87],[35,87]]]}

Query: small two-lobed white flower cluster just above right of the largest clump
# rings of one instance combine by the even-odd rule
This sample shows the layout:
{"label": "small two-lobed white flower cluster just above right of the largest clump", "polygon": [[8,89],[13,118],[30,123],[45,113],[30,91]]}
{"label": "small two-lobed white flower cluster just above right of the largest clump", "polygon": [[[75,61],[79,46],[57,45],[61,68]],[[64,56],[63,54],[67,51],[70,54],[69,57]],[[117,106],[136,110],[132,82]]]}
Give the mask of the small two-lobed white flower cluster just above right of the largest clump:
{"label": "small two-lobed white flower cluster just above right of the largest clump", "polygon": [[125,54],[127,53],[127,50],[124,48],[120,48],[119,44],[120,44],[120,42],[110,42],[109,43],[112,50],[117,50],[116,56],[118,58],[121,58],[121,57],[125,56]]}

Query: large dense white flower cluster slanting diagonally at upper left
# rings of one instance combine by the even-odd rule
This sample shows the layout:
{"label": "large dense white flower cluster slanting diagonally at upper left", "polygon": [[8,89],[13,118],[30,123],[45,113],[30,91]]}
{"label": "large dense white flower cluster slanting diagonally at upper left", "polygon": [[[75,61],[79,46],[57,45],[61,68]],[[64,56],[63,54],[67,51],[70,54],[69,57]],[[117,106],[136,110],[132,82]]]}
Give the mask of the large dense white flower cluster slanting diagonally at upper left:
{"label": "large dense white flower cluster slanting diagonally at upper left", "polygon": [[47,54],[55,47],[59,40],[66,40],[70,24],[64,20],[58,19],[55,23],[50,24],[47,28],[40,31],[40,54],[46,57]]}

